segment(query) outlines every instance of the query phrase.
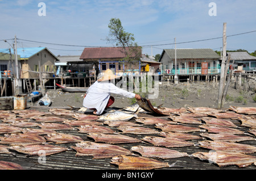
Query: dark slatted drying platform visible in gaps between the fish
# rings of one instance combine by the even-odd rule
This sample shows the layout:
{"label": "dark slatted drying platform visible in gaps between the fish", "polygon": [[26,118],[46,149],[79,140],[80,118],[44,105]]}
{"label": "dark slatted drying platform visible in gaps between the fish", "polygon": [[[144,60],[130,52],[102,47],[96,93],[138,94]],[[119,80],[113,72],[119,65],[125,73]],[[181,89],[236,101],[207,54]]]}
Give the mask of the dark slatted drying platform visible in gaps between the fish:
{"label": "dark slatted drying platform visible in gaps between the fish", "polygon": [[[47,110],[46,110],[47,111]],[[146,115],[145,113],[139,113],[139,117],[141,116],[151,116]],[[162,119],[168,119],[168,116],[161,117]],[[72,119],[69,117],[69,119]],[[130,122],[135,123],[134,119],[129,120]],[[241,125],[241,123],[238,120],[232,120],[234,124]],[[1,121],[0,121],[1,123]],[[137,123],[137,122],[136,122]],[[108,127],[107,125],[102,125],[104,127]],[[198,126],[198,125],[197,125]],[[147,125],[146,127],[156,129],[154,128],[154,125]],[[115,132],[119,132],[117,128],[112,129]],[[247,128],[243,128],[247,129]],[[248,129],[247,129],[248,130]],[[160,130],[158,130],[160,132]],[[79,133],[77,130],[72,131],[56,131],[61,133],[68,133],[73,134],[76,136],[80,136],[84,141],[93,141],[93,139],[86,136],[86,133]],[[201,132],[193,132],[190,134],[195,134],[199,136]],[[142,134],[142,135],[135,135],[135,134],[125,134],[127,136],[136,137],[136,138],[143,138],[144,136],[149,136],[148,134]],[[0,134],[0,136],[3,136]],[[150,136],[159,136],[156,134],[150,134]],[[192,140],[191,142],[197,144],[197,141],[203,141],[202,140]],[[240,143],[243,144],[249,144],[256,146],[256,141],[242,141]],[[123,148],[129,149],[131,146],[136,145],[146,145],[146,146],[152,146],[151,144],[147,144],[146,142],[141,143],[133,143],[133,144],[118,144],[118,146],[122,146]],[[74,144],[58,144],[58,146],[75,146]],[[204,151],[208,152],[208,149],[200,148],[199,146],[189,146],[189,147],[183,147],[183,148],[170,148],[173,150],[186,152],[188,154],[196,153],[197,151]],[[255,155],[250,154],[250,155]],[[9,161],[18,163],[20,166],[23,167],[23,169],[26,170],[118,170],[118,166],[112,165],[110,163],[111,158],[105,158],[105,159],[92,159],[92,157],[76,157],[76,151],[75,150],[68,150],[62,153],[57,153],[53,155],[49,155],[46,157],[46,163],[39,163],[39,157],[38,156],[32,156],[32,157],[26,157],[26,154],[21,153],[15,153],[14,155],[11,154],[0,154],[0,161]],[[176,166],[178,167],[165,167],[162,169],[156,169],[156,170],[255,170],[256,166],[250,165],[245,168],[238,168],[238,166],[228,166],[228,167],[219,167],[214,163],[209,163],[208,161],[201,161],[200,159],[194,158],[194,157],[181,157],[181,158],[173,158],[173,159],[158,159],[159,161],[168,162],[170,165],[172,163],[176,162]]]}

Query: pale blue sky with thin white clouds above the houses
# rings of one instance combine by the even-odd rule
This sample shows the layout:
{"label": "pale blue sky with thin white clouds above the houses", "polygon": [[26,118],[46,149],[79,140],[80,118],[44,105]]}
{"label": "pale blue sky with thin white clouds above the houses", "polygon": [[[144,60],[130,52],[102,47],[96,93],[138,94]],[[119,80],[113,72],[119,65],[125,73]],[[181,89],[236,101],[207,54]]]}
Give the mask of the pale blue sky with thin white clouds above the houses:
{"label": "pale blue sky with thin white clouds above the houses", "polygon": [[[43,3],[43,5],[42,5]],[[223,47],[256,50],[255,0],[0,0],[0,48],[47,47],[55,56],[80,56],[106,41],[110,19],[119,18],[142,53],[163,49]],[[235,36],[233,36],[235,35]],[[4,40],[7,40],[5,42]]]}

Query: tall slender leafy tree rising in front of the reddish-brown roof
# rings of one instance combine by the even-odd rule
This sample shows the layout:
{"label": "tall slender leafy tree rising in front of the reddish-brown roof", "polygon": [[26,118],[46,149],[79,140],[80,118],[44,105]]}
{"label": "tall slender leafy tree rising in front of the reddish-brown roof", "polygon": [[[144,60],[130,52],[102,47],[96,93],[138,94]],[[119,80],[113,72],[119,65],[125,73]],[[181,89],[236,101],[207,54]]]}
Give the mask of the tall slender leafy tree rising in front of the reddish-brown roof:
{"label": "tall slender leafy tree rising in front of the reddish-brown roof", "polygon": [[125,32],[122,26],[121,20],[118,18],[110,19],[109,36],[106,38],[107,41],[112,42],[117,47],[122,47],[122,52],[125,54],[124,61],[131,64],[136,64],[141,57],[141,47],[138,47],[135,43],[133,33]]}

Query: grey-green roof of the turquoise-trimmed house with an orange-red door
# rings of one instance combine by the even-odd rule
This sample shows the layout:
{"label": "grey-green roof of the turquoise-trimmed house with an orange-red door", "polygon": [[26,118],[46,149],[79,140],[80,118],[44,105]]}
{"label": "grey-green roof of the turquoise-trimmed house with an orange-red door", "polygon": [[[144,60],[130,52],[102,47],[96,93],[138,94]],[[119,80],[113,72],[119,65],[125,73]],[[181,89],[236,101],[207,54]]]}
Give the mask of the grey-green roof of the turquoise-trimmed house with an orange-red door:
{"label": "grey-green roof of the turquoise-trimmed house with an orange-red door", "polygon": [[[171,59],[175,58],[175,49],[164,49],[164,52]],[[176,58],[220,58],[220,56],[212,49],[176,49]]]}

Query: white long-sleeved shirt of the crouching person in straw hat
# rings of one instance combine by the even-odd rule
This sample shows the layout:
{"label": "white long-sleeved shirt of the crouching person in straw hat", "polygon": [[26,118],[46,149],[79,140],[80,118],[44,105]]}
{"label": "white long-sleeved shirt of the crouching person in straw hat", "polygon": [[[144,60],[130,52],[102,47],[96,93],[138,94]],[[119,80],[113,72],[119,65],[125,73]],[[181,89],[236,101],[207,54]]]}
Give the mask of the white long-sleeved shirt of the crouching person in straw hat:
{"label": "white long-sleeved shirt of the crouching person in straw hat", "polygon": [[105,110],[111,93],[126,96],[128,98],[135,97],[134,93],[120,89],[109,81],[96,81],[87,90],[82,106],[89,109],[96,108],[97,115],[100,115]]}

